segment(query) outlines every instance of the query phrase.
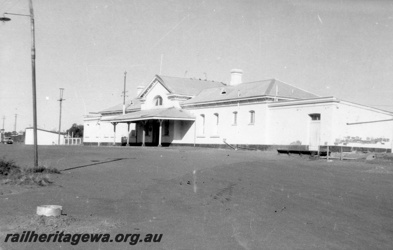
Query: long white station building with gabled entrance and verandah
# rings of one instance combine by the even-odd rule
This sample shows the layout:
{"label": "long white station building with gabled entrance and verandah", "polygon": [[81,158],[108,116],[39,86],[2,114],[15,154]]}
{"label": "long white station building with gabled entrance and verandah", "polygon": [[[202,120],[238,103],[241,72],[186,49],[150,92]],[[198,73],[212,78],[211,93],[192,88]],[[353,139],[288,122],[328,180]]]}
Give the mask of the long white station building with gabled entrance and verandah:
{"label": "long white station building with gabled entrance and verandah", "polygon": [[277,79],[155,75],[134,100],[84,119],[84,145],[391,152],[393,113],[320,97]]}

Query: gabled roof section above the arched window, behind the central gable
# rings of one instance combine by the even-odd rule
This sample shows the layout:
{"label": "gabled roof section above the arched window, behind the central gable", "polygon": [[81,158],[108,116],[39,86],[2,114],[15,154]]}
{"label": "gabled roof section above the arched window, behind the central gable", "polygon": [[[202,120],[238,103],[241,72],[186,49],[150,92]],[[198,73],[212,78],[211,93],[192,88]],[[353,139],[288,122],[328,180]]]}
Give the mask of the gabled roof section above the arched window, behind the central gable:
{"label": "gabled roof section above the arched window, behind the central gable", "polygon": [[186,96],[196,96],[203,89],[226,86],[225,83],[218,81],[155,75],[154,78],[150,81],[149,86],[144,88],[139,97],[146,95],[146,92],[151,89],[150,85],[154,84],[155,79],[157,79],[166,89],[168,89],[170,94]]}

